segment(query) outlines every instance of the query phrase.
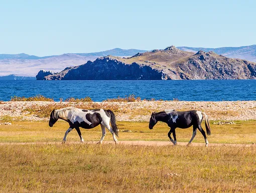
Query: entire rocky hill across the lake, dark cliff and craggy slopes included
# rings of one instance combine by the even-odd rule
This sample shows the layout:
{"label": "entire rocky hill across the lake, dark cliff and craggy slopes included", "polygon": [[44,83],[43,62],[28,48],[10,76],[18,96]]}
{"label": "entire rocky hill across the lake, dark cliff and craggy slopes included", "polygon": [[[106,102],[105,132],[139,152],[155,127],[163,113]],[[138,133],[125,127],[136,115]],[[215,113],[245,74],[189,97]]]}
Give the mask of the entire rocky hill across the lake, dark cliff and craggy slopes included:
{"label": "entire rocky hill across the lake, dark cliff and craggy slopes included", "polygon": [[101,57],[37,80],[198,80],[256,79],[256,64],[214,52],[181,51],[174,46],[133,57]]}

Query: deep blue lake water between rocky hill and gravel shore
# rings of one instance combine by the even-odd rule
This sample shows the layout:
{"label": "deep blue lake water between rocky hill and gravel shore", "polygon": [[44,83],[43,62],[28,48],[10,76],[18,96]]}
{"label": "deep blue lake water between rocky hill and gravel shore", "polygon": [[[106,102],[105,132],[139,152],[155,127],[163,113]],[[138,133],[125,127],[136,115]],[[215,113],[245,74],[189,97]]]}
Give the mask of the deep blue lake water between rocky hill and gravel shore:
{"label": "deep blue lake water between rocky hill and gravel shore", "polygon": [[134,94],[142,99],[181,101],[256,100],[256,80],[0,80],[0,100],[43,95],[59,101],[91,97],[93,101]]}

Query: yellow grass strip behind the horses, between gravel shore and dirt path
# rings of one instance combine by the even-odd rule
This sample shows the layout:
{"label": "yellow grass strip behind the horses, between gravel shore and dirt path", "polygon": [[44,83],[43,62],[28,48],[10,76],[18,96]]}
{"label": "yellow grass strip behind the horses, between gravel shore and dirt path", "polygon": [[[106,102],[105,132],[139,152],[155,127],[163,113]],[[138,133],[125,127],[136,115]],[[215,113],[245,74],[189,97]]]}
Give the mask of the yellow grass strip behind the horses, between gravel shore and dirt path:
{"label": "yellow grass strip behind the horses, between gravel shore and dirt path", "polygon": [[[211,123],[212,135],[207,136],[209,143],[256,143],[256,121],[235,121],[232,125],[214,125]],[[154,129],[148,128],[148,122],[117,122],[119,126],[118,140],[146,140],[169,141],[168,126],[157,123]],[[204,123],[202,124],[203,128]],[[62,141],[69,125],[59,120],[53,127],[48,122],[13,121],[12,125],[0,125],[0,142],[51,142]],[[121,132],[131,130],[132,132]],[[205,129],[204,129],[205,130]],[[192,136],[192,127],[176,129],[178,142],[188,142]],[[101,137],[101,128],[81,129],[85,141],[98,141]],[[79,141],[80,138],[74,129],[67,136],[67,141]],[[112,135],[107,131],[104,140],[112,140]],[[197,131],[193,142],[204,142],[202,134]]]}

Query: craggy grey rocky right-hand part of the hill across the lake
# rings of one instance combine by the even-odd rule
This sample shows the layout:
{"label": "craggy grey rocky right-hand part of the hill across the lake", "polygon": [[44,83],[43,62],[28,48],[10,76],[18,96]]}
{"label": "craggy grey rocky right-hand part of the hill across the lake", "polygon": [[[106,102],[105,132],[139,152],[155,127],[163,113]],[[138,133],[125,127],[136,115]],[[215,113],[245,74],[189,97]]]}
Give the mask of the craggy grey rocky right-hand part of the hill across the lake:
{"label": "craggy grey rocky right-hand part of the hill across the lake", "polygon": [[181,79],[256,79],[255,63],[199,51],[178,63]]}

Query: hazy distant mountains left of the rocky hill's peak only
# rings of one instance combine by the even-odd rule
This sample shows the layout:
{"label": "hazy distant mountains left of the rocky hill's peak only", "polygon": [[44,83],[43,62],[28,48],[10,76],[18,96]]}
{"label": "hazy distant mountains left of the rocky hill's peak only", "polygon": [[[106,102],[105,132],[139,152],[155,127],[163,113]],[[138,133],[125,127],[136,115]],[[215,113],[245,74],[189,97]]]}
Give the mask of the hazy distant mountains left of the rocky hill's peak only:
{"label": "hazy distant mountains left of the rocky hill's peak only", "polygon": [[46,71],[60,72],[66,67],[85,64],[87,61],[94,61],[98,57],[133,56],[145,50],[122,50],[115,48],[103,52],[62,54],[58,56],[38,57],[27,54],[0,54],[0,76],[14,74],[16,76],[35,77],[41,69]]}

